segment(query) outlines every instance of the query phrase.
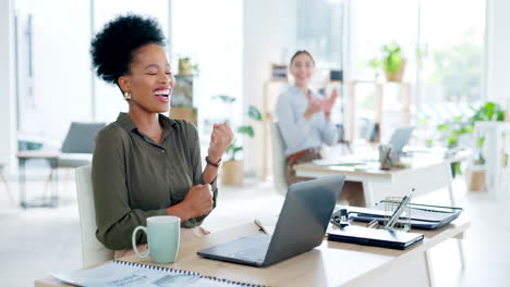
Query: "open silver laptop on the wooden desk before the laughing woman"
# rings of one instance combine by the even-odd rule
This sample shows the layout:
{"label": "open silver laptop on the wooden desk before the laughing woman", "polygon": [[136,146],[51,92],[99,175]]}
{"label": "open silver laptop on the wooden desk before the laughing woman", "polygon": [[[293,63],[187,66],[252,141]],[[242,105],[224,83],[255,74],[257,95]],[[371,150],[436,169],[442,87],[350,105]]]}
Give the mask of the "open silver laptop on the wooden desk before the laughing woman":
{"label": "open silver laptop on the wooden desk before the laughing woman", "polygon": [[291,185],[272,236],[254,234],[201,250],[197,254],[268,266],[312,250],[323,242],[344,179],[344,175],[335,175]]}

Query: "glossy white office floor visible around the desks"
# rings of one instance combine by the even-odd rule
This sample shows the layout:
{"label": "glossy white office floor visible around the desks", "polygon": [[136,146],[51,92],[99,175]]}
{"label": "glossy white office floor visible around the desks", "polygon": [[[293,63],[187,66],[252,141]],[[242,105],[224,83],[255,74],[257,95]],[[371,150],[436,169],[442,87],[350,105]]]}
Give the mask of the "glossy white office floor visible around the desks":
{"label": "glossy white office floor visible around the desks", "polygon": [[[28,183],[32,194],[39,192],[42,187],[42,180]],[[0,286],[33,286],[34,279],[52,271],[81,267],[73,179],[61,182],[59,187],[59,208],[22,210],[10,201],[0,184]],[[11,182],[10,189],[17,200],[17,184]],[[436,192],[423,200],[441,204],[448,202],[444,195]],[[510,220],[506,214],[510,209],[510,196],[493,199],[486,192],[466,192],[463,182],[457,179],[456,198],[472,219],[464,244],[466,269],[461,270],[453,240],[436,247],[432,252],[436,286],[509,286]],[[282,202],[283,197],[276,194],[269,183],[221,187],[218,205],[204,227],[217,232],[253,222],[255,216],[277,214]]]}

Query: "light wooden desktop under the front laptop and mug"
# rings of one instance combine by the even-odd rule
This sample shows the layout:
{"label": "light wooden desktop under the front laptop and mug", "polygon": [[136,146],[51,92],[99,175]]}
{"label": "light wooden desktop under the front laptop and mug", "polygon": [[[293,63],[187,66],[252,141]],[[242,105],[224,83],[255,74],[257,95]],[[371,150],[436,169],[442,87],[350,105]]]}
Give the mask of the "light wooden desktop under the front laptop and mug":
{"label": "light wooden desktop under the front laptop and mug", "polygon": [[[308,252],[260,269],[203,259],[196,254],[201,249],[257,233],[255,224],[248,223],[181,242],[177,263],[165,266],[266,286],[432,286],[427,250],[448,238],[462,236],[470,225],[470,221],[461,216],[438,230],[420,230],[425,234],[423,242],[405,251],[324,240]],[[122,260],[151,264],[149,259],[136,255]],[[36,280],[35,286],[68,285],[46,277]]]}

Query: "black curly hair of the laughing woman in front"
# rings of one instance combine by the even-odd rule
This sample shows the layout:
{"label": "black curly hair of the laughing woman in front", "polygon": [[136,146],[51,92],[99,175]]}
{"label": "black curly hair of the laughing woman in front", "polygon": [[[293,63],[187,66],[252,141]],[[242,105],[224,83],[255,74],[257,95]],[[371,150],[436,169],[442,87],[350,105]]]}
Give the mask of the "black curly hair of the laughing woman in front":
{"label": "black curly hair of the laughing woman in front", "polygon": [[130,73],[133,51],[147,45],[165,46],[165,36],[155,18],[135,14],[119,16],[107,23],[90,46],[93,67],[110,84]]}

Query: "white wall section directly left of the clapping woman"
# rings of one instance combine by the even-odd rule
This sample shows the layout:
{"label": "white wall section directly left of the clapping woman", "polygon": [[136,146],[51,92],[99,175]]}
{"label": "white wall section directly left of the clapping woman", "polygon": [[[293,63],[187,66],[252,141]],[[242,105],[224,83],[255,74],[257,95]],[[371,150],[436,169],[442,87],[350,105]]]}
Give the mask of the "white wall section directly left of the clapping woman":
{"label": "white wall section directly left of the clapping woman", "polygon": [[[282,59],[286,47],[295,42],[295,27],[290,18],[295,17],[295,3],[290,0],[244,1],[243,49],[243,107],[264,107],[264,83],[270,77],[271,62]],[[247,118],[245,121],[248,121]],[[262,175],[263,126],[255,124],[255,137],[245,148],[245,172]],[[270,147],[269,147],[270,148]]]}

